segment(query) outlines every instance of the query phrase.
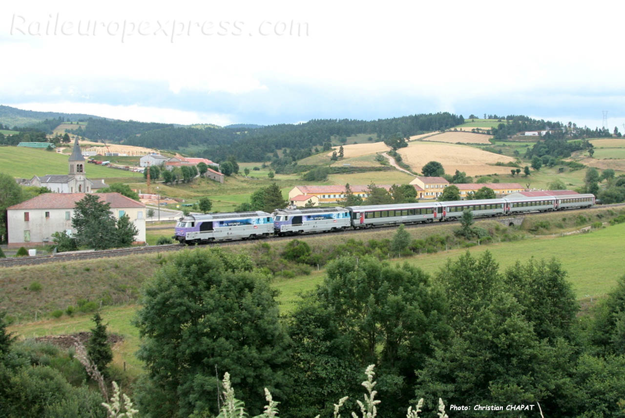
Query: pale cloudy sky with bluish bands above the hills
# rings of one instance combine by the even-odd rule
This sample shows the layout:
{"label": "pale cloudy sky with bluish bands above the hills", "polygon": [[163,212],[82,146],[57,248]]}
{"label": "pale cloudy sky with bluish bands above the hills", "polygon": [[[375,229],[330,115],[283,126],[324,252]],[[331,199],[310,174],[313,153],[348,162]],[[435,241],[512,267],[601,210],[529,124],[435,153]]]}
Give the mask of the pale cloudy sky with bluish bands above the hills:
{"label": "pale cloudy sky with bluish bands above the hills", "polygon": [[[509,3],[509,4],[506,4]],[[624,2],[3,2],[0,104],[178,124],[447,111],[625,131]]]}

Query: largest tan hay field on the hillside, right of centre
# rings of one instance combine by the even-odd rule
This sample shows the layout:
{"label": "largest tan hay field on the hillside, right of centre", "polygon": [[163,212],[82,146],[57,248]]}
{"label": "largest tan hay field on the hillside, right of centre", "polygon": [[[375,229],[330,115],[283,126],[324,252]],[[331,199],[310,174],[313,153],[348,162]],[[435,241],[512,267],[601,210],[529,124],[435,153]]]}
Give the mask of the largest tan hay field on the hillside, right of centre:
{"label": "largest tan hay field on the hillside, right of centre", "polygon": [[494,166],[497,161],[514,162],[514,158],[482,151],[470,146],[457,144],[437,144],[436,142],[412,142],[406,148],[398,150],[404,162],[417,172],[429,161],[438,161],[446,173],[456,170],[466,172],[467,176],[510,172],[510,167]]}

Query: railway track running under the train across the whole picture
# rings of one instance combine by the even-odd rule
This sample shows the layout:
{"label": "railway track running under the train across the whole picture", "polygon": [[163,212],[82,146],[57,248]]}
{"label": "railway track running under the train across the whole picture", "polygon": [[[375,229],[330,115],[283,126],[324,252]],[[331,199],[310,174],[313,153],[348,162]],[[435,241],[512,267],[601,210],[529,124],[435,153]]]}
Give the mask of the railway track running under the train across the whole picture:
{"label": "railway track running under the train across the whole picture", "polygon": [[[617,203],[617,204],[609,204],[609,205],[601,205],[594,206],[584,209],[567,209],[562,212],[572,212],[572,211],[596,211],[600,209],[609,209],[610,207],[623,207],[625,203]],[[542,214],[552,214],[554,212],[531,212],[526,214],[516,214],[511,216],[501,216],[495,218],[479,218],[480,220],[496,220],[496,221],[506,221],[506,219],[512,219],[516,217],[522,217],[527,215],[542,215]],[[447,221],[444,222],[446,224],[454,224],[459,223],[459,221]],[[429,224],[407,224],[406,227],[409,229],[419,228],[425,226],[431,226],[434,223]],[[365,231],[384,231],[385,229],[394,229],[397,225],[388,225],[388,226],[380,226],[372,229],[346,229],[344,231],[336,231],[336,232],[328,232],[335,235],[346,235],[350,234],[361,234]],[[304,236],[317,236],[318,234],[304,234]],[[271,240],[274,242],[279,241],[290,241],[296,237],[302,237],[301,235],[293,235],[293,236],[282,236],[282,237],[265,237],[259,238],[256,241],[260,240]],[[216,242],[213,244],[207,244],[206,246],[236,246],[249,242],[249,240],[242,241],[224,241],[224,242]],[[200,246],[200,247],[206,247]],[[166,244],[162,246],[143,246],[143,247],[128,247],[128,248],[118,248],[118,249],[108,249],[108,250],[88,250],[88,251],[74,251],[74,252],[59,252],[54,255],[47,256],[34,256],[34,257],[8,257],[8,258],[0,258],[0,267],[14,267],[14,266],[32,266],[36,264],[46,264],[49,262],[59,262],[59,261],[76,261],[76,260],[84,260],[84,259],[96,259],[103,257],[119,257],[119,256],[129,256],[134,254],[150,254],[152,252],[164,252],[164,251],[178,251],[181,249],[188,248],[184,244]],[[192,246],[191,246],[192,247]]]}

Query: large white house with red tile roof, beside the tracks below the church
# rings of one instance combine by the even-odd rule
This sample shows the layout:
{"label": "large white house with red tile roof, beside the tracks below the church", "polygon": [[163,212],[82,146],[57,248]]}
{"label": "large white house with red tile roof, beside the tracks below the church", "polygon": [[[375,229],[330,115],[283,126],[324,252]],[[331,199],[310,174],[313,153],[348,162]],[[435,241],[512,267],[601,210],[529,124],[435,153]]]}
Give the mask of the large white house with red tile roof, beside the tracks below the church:
{"label": "large white house with red tile roof, beside the tracks below the church", "polygon": [[[9,247],[41,246],[53,240],[54,232],[76,232],[72,217],[76,202],[86,193],[44,193],[7,208]],[[119,193],[100,193],[96,196],[111,205],[115,219],[124,214],[138,229],[134,241],[146,241],[146,206]]]}

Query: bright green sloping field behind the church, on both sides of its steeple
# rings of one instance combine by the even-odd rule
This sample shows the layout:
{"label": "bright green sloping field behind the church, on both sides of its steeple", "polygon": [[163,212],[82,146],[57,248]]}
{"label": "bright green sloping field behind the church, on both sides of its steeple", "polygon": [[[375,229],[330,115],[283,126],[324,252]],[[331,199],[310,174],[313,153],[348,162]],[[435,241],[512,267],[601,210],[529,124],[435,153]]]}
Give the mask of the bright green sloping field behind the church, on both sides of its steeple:
{"label": "bright green sloping field behind the church, on both sides of its steeple", "polygon": [[[68,174],[68,156],[46,151],[45,149],[32,149],[26,147],[0,147],[0,172],[13,177],[29,179],[32,176],[44,176],[46,174]],[[113,178],[143,179],[139,172],[123,171],[110,167],[85,164],[85,174],[89,179]]]}

